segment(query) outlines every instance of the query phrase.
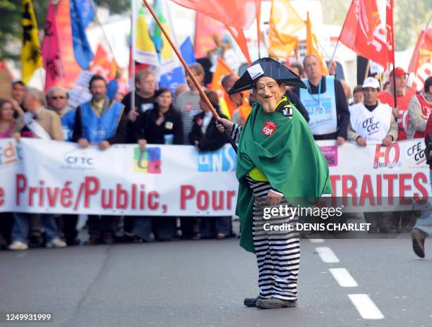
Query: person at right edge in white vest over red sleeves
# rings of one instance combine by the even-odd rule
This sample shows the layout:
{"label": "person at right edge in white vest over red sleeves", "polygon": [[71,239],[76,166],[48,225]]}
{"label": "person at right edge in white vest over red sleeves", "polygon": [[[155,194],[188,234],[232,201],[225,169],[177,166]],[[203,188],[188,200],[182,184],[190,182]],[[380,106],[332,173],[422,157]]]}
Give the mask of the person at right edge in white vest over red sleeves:
{"label": "person at right edge in white vest over red sleeves", "polygon": [[426,123],[432,110],[432,76],[424,82],[424,92],[411,98],[408,106],[407,137],[424,137]]}

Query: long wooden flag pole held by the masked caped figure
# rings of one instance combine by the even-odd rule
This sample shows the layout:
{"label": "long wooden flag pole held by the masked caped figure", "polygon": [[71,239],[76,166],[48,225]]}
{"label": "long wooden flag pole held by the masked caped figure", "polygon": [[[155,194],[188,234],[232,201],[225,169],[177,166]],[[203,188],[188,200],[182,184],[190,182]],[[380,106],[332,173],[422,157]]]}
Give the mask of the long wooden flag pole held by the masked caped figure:
{"label": "long wooden flag pole held by the masked caped figure", "polygon": [[[198,83],[198,81],[196,80],[195,76],[193,75],[191,68],[189,68],[189,66],[187,65],[186,61],[184,61],[184,58],[181,56],[179,49],[177,49],[176,45],[174,44],[174,42],[172,42],[171,37],[169,37],[167,30],[165,30],[164,26],[162,25],[162,23],[160,23],[159,18],[157,18],[157,15],[155,13],[155,11],[153,10],[152,6],[150,6],[150,4],[148,3],[148,0],[142,0],[143,3],[145,4],[145,6],[148,8],[148,11],[150,11],[150,14],[153,16],[153,18],[155,19],[157,25],[159,25],[160,30],[162,31],[162,33],[164,33],[165,37],[167,38],[168,43],[171,45],[173,51],[175,52],[176,56],[179,58],[181,64],[184,66],[184,69],[186,70],[186,73],[189,75],[189,78],[191,78],[193,85],[195,85],[195,87],[197,88],[201,99],[203,99],[203,101],[205,102],[205,104],[208,106],[208,108],[210,109],[210,111],[213,114],[213,117],[216,119],[216,121],[219,121],[220,116],[217,114],[215,108],[213,108],[210,100],[208,99],[207,95],[205,95],[204,91],[203,91],[203,87],[200,85],[200,83]],[[226,130],[225,130],[226,132]],[[236,143],[234,142],[234,140],[232,140],[231,137],[229,137],[228,133],[226,132],[226,135],[229,139],[229,143],[231,143],[232,147],[234,148],[234,150],[237,152],[237,146]]]}

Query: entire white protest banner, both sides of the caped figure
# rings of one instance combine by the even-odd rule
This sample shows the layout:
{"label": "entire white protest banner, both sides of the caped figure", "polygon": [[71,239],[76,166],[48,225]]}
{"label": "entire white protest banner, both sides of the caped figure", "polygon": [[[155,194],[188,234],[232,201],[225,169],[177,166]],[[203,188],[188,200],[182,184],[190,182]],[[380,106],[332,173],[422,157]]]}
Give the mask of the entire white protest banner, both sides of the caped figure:
{"label": "entire white protest banner, both sides of the caped figure", "polygon": [[[412,208],[431,195],[422,139],[359,147],[319,141],[333,196],[346,211],[379,211],[386,202]],[[129,216],[234,214],[236,154],[195,147],[134,144],[80,149],[74,143],[0,140],[0,211]],[[300,173],[300,172],[299,172]],[[368,209],[364,206],[368,205]],[[374,208],[371,208],[374,207]]]}

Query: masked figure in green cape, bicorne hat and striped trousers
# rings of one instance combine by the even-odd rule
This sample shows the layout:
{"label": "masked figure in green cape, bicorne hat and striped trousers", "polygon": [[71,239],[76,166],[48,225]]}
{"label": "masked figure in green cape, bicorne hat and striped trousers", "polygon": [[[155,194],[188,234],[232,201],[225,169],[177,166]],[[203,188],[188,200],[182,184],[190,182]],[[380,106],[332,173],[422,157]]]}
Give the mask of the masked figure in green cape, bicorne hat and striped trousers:
{"label": "masked figure in green cape, bicorne hat and striped trousers", "polygon": [[[227,130],[239,141],[236,215],[241,221],[240,245],[255,253],[258,261],[260,295],[246,298],[246,307],[296,307],[300,243],[295,226],[299,217],[289,209],[276,211],[313,204],[332,192],[327,162],[308,123],[284,97],[286,85],[306,87],[281,63],[258,59],[230,90],[252,89],[258,101],[244,127],[219,119],[220,132]],[[292,227],[277,230],[284,226]]]}

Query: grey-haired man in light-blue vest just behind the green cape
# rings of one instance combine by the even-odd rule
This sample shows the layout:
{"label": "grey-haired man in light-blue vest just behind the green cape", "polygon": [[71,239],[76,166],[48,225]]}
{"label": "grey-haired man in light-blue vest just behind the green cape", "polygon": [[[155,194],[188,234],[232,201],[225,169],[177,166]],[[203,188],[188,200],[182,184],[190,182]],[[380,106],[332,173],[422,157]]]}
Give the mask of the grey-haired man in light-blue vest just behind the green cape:
{"label": "grey-haired man in light-blue vest just behind the green cape", "polygon": [[349,109],[344,88],[333,76],[323,76],[323,69],[316,56],[304,58],[307,89],[295,88],[309,114],[309,126],[315,140],[337,140],[338,145],[347,140]]}

